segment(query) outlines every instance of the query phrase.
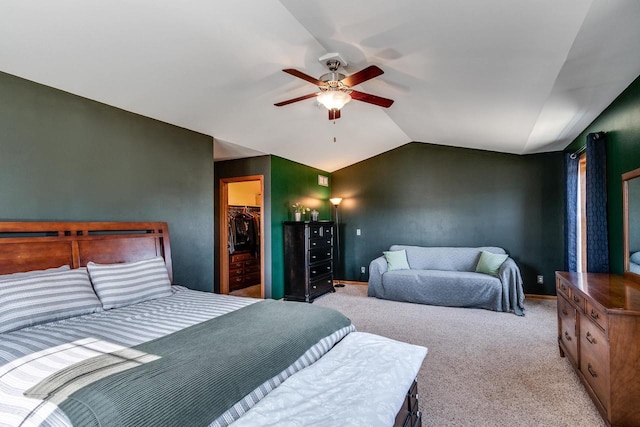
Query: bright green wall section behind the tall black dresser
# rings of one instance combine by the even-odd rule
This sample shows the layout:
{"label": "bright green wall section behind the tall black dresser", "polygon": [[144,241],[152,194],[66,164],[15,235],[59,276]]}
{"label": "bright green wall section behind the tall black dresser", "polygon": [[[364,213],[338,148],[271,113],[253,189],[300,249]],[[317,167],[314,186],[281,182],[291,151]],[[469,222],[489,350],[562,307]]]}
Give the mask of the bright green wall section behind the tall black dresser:
{"label": "bright green wall section behind the tall black dresser", "polygon": [[[283,221],[293,220],[292,204],[316,209],[319,219],[331,218],[330,187],[318,185],[318,175],[328,172],[271,156],[271,297],[284,296]],[[309,214],[306,215],[309,219]]]}

